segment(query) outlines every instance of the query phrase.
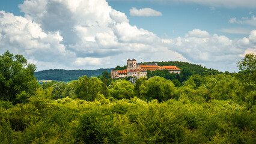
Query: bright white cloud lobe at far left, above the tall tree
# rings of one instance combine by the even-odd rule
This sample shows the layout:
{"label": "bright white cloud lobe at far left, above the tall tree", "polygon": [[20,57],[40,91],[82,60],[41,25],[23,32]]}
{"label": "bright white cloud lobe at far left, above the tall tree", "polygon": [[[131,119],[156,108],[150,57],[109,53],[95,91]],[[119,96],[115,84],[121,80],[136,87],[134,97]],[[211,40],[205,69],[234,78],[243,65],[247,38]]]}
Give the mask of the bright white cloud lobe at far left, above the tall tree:
{"label": "bright white cloud lobe at far left, above the tall tree", "polygon": [[[61,44],[59,32],[44,32],[40,25],[21,16],[0,11],[0,52],[6,50],[38,61],[63,61],[74,55]],[[49,53],[50,52],[50,53]]]}

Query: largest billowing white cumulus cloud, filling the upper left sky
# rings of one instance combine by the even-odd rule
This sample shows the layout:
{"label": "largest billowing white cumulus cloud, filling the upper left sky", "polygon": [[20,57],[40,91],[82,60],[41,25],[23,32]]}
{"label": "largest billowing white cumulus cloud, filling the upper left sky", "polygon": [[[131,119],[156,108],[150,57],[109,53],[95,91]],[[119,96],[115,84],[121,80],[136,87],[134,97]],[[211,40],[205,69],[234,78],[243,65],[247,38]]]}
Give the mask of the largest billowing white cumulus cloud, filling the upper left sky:
{"label": "largest billowing white cumulus cloud, filling the upper left sky", "polygon": [[123,53],[161,47],[153,32],[131,26],[105,0],[30,0],[19,8],[24,17],[0,14],[0,50],[24,55],[38,70],[115,67]]}

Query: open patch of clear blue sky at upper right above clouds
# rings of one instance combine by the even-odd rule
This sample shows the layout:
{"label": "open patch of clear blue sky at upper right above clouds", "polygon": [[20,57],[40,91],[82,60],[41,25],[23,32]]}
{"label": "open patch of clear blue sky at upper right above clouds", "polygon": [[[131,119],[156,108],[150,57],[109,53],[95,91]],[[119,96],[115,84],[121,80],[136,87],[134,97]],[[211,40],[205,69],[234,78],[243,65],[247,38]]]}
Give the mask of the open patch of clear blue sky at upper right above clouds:
{"label": "open patch of clear blue sky at upper right above clouds", "polygon": [[[237,17],[251,17],[255,14],[255,8],[225,8],[214,7],[210,5],[200,4],[184,4],[175,2],[159,3],[159,2],[138,2],[138,1],[108,1],[109,5],[115,10],[126,13],[131,25],[136,25],[138,28],[148,29],[154,32],[159,37],[179,37],[184,36],[192,29],[203,29],[211,34],[225,34],[230,38],[245,37],[245,34],[230,34],[222,32],[221,29],[228,28],[248,28],[255,29],[253,26],[239,25],[229,23],[228,21]],[[132,7],[138,9],[152,8],[160,11],[162,16],[159,17],[134,17],[129,15],[129,10]],[[249,34],[249,33],[248,33]]]}

